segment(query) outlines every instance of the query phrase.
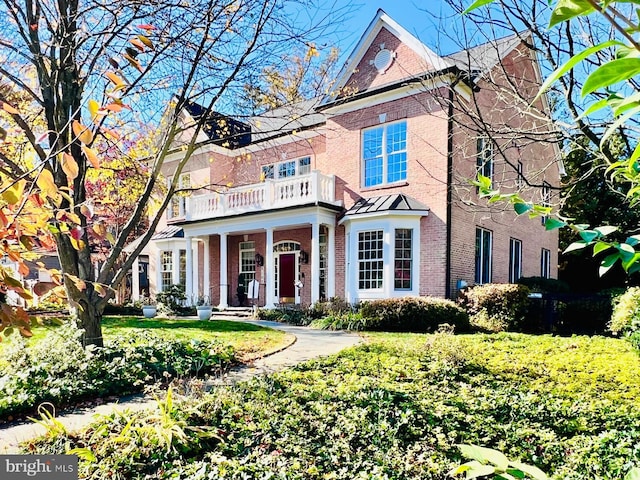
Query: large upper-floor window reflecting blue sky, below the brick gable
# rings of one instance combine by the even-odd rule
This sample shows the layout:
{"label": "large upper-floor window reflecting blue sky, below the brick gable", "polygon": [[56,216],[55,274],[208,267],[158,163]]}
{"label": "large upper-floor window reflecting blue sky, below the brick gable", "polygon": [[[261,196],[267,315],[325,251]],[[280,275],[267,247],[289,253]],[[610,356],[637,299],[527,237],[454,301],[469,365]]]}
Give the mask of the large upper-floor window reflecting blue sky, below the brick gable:
{"label": "large upper-floor window reflecting blue sky, below the brick gable", "polygon": [[407,179],[407,122],[362,132],[364,186],[374,187]]}

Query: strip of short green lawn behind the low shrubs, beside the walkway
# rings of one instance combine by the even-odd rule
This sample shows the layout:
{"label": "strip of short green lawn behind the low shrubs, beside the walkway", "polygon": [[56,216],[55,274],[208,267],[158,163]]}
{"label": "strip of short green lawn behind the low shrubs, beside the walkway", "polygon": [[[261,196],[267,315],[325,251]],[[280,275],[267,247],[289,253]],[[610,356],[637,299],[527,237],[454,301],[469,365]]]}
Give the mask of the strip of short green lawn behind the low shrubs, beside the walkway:
{"label": "strip of short green lawn behind the low shrubs, beside the walkway", "polygon": [[[64,321],[64,319],[58,320]],[[104,317],[102,321],[102,334],[105,340],[115,335],[135,335],[142,329],[165,338],[218,340],[231,345],[236,350],[238,358],[243,361],[279,350],[293,341],[291,335],[279,330],[238,321],[141,317]],[[33,337],[30,342],[37,342],[47,335],[56,335],[56,330],[57,326],[50,321],[47,325],[36,325],[32,330]],[[3,344],[11,342],[13,335],[18,333],[14,332],[11,336],[4,338],[3,342],[0,342],[0,350]]]}

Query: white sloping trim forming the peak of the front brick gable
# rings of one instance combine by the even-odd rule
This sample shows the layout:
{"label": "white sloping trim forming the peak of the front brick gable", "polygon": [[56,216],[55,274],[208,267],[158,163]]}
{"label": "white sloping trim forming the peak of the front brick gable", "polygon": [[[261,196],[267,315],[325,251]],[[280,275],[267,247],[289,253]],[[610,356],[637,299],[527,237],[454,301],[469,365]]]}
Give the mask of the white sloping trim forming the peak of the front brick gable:
{"label": "white sloping trim forming the peak of the front brick gable", "polygon": [[[342,67],[342,70],[340,70],[340,73],[338,74],[336,79],[334,91],[340,92],[343,87],[346,86],[354,70],[356,69],[364,55],[367,53],[372,42],[374,41],[378,33],[380,33],[380,30],[383,27],[393,35],[395,35],[403,44],[411,48],[411,50],[413,50],[420,58],[422,58],[426,64],[432,65],[434,71],[446,70],[453,66],[450,61],[442,58],[440,55],[435,53],[424,43],[418,40],[415,36],[409,33],[404,27],[393,20],[389,15],[387,15],[384,10],[378,9],[376,16],[373,18],[362,37],[360,37],[360,40],[349,55],[349,58]],[[322,100],[320,106],[330,103],[333,100],[333,96],[327,95]]]}

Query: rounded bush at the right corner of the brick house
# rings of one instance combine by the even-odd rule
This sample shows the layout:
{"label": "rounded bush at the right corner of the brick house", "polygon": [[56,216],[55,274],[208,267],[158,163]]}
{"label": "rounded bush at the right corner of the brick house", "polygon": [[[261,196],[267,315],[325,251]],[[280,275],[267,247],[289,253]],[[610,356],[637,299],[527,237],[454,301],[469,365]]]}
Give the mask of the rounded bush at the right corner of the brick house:
{"label": "rounded bush at the right corner of the brick house", "polygon": [[510,283],[487,283],[460,292],[460,304],[479,330],[519,331],[524,327],[529,288]]}

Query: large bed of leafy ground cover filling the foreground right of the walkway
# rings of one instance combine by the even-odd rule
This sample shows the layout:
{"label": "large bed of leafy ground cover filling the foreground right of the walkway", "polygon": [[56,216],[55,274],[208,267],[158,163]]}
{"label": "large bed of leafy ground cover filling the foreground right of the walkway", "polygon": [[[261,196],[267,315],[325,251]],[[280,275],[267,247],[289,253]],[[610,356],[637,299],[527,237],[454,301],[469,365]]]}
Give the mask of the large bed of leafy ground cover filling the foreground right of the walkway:
{"label": "large bed of leafy ground cover filling the foreground right of the walkway", "polygon": [[639,372],[620,339],[376,333],[235,388],[79,434],[52,430],[29,448],[75,449],[82,478],[96,479],[437,480],[464,461],[459,444],[552,478],[619,479],[640,463]]}

